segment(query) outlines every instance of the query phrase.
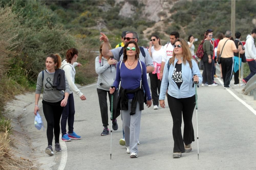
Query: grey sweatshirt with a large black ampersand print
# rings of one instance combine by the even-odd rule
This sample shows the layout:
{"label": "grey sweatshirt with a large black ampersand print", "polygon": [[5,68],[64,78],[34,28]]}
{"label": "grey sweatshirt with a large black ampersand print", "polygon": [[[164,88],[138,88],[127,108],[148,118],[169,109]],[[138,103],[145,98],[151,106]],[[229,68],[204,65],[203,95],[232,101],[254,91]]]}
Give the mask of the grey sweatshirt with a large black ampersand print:
{"label": "grey sweatshirt with a large black ampersand print", "polygon": [[[37,84],[36,84],[36,94],[41,94],[42,88],[43,90],[43,99],[48,102],[58,102],[63,99],[64,92],[62,90],[57,90],[56,88],[52,88],[54,73],[48,73],[44,70],[44,81],[42,72],[40,72],[37,76]],[[67,78],[65,76],[66,89],[65,93],[69,93],[69,85]]]}

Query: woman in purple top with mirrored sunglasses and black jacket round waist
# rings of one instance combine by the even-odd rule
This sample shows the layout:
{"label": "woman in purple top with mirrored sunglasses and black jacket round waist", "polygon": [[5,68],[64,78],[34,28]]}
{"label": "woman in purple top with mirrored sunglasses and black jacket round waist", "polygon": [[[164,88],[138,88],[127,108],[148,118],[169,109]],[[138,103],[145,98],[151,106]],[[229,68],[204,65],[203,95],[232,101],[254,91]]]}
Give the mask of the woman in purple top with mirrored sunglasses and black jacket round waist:
{"label": "woman in purple top with mirrored sunglasses and black jacket round waist", "polygon": [[[146,66],[145,63],[138,60],[139,54],[140,48],[135,41],[129,41],[125,44],[123,61],[118,62],[116,66],[116,78],[113,85],[115,87],[110,88],[110,93],[114,93],[121,81],[116,114],[120,114],[120,110],[122,110],[126,152],[131,153],[130,158],[138,157],[137,145],[144,102],[146,102],[147,107],[152,104]],[[142,86],[147,99],[144,98]],[[115,117],[117,116],[115,115]]]}

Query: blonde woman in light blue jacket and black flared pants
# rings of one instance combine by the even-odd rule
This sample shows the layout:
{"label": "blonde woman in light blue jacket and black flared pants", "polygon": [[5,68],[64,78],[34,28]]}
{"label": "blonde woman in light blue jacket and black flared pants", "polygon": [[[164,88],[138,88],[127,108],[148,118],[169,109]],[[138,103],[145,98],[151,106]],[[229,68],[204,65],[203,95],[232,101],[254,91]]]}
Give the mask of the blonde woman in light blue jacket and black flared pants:
{"label": "blonde woman in light blue jacket and black flared pants", "polygon": [[165,108],[164,99],[168,88],[167,101],[173,118],[173,158],[180,158],[182,153],[191,152],[191,143],[195,141],[192,124],[196,101],[193,81],[201,84],[202,76],[196,60],[191,57],[188,43],[183,39],[178,39],[174,45],[173,57],[165,64],[159,95],[160,106]]}

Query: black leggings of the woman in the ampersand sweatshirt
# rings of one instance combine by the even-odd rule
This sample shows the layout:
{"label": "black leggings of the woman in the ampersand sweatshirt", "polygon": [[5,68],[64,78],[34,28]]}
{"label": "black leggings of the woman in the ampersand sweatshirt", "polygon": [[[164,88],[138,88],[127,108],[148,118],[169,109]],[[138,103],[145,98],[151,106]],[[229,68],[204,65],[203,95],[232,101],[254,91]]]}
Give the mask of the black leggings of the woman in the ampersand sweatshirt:
{"label": "black leggings of the woman in the ampersand sweatshirt", "polygon": [[52,146],[53,132],[55,136],[55,143],[59,143],[60,117],[63,111],[63,107],[60,106],[60,102],[61,100],[55,103],[47,102],[44,99],[42,100],[43,112],[47,122],[46,135],[47,135],[48,145],[51,145],[51,146]]}

